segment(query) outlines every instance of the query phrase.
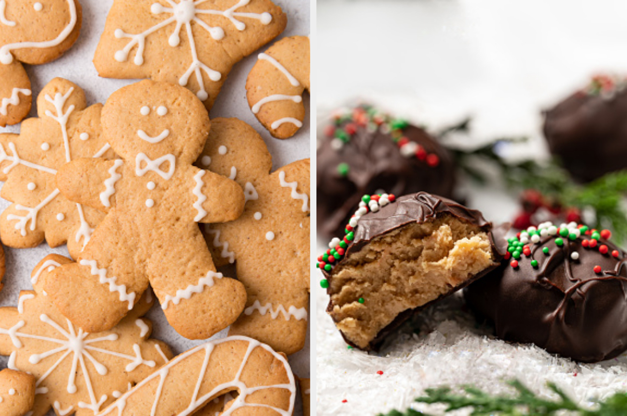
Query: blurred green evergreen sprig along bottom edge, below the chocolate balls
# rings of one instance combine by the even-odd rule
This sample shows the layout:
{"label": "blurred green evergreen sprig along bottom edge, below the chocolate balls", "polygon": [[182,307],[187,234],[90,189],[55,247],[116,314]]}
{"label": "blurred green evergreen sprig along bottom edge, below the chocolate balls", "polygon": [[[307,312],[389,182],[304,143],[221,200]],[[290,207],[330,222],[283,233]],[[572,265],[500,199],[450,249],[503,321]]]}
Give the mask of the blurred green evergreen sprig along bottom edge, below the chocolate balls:
{"label": "blurred green evergreen sprig along bottom edge, below the chocolate balls", "polygon": [[[559,414],[580,416],[618,416],[627,414],[627,393],[614,393],[604,401],[598,402],[593,410],[579,407],[554,383],[547,387],[556,393],[556,400],[540,398],[518,380],[508,382],[515,390],[515,395],[491,395],[472,386],[463,387],[465,393],[454,393],[448,387],[428,388],[425,396],[416,398],[416,402],[446,405],[445,413],[472,408],[472,416],[554,416]],[[379,416],[418,416],[426,413],[409,408],[404,412],[392,410]]]}

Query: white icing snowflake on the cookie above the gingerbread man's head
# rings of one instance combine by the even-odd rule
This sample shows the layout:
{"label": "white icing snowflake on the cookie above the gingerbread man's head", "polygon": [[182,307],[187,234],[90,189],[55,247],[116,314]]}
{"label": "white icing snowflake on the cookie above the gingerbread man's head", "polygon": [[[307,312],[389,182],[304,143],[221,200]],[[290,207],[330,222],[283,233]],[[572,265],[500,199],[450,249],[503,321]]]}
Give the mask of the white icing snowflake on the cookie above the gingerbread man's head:
{"label": "white icing snowflake on the cookie above the gingerbread man's head", "polygon": [[196,92],[196,96],[201,101],[207,100],[209,95],[205,90],[204,80],[203,80],[203,72],[209,77],[212,81],[219,81],[222,78],[222,74],[216,70],[209,68],[208,65],[203,63],[198,58],[198,52],[196,50],[196,39],[194,37],[194,33],[192,31],[192,23],[194,26],[199,26],[209,33],[211,38],[216,41],[219,41],[224,38],[224,29],[220,26],[209,26],[206,21],[202,20],[199,16],[207,16],[207,15],[217,15],[222,16],[227,19],[233,26],[239,31],[243,31],[246,29],[246,24],[242,21],[243,19],[256,19],[261,22],[261,24],[270,24],[272,21],[272,16],[270,13],[243,13],[238,12],[238,9],[246,6],[246,4],[250,3],[251,0],[239,0],[233,6],[226,10],[216,10],[216,9],[207,9],[203,8],[203,4],[207,3],[208,0],[178,0],[178,3],[175,0],[164,0],[164,3],[167,3],[169,6],[164,6],[161,3],[153,3],[150,6],[150,13],[155,16],[159,16],[162,14],[170,15],[165,20],[155,24],[149,29],[145,30],[142,33],[131,34],[126,33],[122,29],[115,30],[115,37],[118,39],[128,38],[130,39],[129,43],[123,49],[120,49],[115,53],[115,60],[118,62],[125,62],[129,59],[129,54],[131,49],[137,46],[137,51],[135,51],[135,56],[133,62],[135,65],[142,65],[144,63],[144,48],[146,38],[150,36],[150,34],[155,33],[162,28],[165,28],[169,24],[176,23],[174,31],[170,34],[168,38],[168,43],[172,48],[179,46],[181,43],[181,30],[184,28],[187,34],[187,39],[189,40],[189,50],[191,53],[192,62],[191,65],[187,68],[187,71],[179,78],[179,85],[186,86],[189,78],[194,75],[196,76],[196,81],[198,81],[199,90]]}

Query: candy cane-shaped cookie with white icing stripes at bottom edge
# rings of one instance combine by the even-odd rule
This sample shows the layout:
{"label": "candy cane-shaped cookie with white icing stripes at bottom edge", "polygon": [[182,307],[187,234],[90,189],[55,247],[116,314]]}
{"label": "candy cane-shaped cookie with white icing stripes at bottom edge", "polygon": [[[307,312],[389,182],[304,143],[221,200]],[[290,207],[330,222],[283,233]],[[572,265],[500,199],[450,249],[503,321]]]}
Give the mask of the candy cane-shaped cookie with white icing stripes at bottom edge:
{"label": "candy cane-shaped cookie with white icing stripes at bottom edge", "polygon": [[190,415],[229,392],[239,395],[223,416],[288,416],[296,385],[285,356],[251,338],[231,336],[176,356],[98,416]]}

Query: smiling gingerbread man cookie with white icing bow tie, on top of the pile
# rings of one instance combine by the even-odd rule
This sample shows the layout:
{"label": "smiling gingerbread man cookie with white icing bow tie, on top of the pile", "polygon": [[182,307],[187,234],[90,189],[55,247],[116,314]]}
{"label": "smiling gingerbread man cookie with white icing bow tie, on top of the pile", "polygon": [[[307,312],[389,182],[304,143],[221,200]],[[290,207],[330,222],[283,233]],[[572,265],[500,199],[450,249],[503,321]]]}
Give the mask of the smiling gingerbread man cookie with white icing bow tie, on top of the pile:
{"label": "smiling gingerbread man cookie with white icing bow tie, on top of the pile", "polygon": [[122,160],[75,160],[56,175],[70,200],[107,212],[77,263],[46,286],[72,323],[112,328],[149,283],[186,338],[208,338],[240,315],[245,289],[216,273],[196,224],[232,221],[245,203],[236,182],[192,165],[209,125],[203,103],[178,85],[142,81],[107,100],[103,134]]}

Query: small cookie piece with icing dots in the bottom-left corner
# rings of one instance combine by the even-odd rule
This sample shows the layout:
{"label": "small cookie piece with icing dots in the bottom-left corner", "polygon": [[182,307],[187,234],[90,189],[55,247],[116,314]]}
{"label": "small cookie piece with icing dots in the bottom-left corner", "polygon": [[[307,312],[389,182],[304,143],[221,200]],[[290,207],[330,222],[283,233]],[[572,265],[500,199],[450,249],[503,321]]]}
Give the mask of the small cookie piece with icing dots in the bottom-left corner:
{"label": "small cookie piece with icing dots in the bottom-left corner", "polygon": [[6,368],[0,372],[0,414],[24,416],[33,408],[35,378],[33,375]]}

